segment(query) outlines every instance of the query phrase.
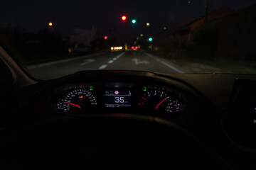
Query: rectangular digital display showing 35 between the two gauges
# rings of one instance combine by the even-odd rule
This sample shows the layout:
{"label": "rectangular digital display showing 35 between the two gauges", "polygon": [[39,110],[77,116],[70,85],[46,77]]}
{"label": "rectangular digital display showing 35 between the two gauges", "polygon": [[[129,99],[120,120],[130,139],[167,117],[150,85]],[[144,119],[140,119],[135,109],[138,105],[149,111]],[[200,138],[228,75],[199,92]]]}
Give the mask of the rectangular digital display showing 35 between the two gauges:
{"label": "rectangular digital display showing 35 between the two gauges", "polygon": [[107,108],[131,107],[131,90],[114,89],[105,90],[105,106]]}

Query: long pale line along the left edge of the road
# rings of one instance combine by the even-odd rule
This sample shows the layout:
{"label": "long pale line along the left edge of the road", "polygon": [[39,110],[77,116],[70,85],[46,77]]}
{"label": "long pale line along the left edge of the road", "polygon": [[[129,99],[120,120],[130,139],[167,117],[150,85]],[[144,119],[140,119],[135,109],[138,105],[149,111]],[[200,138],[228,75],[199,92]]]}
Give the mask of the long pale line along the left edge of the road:
{"label": "long pale line along the left edge of the road", "polygon": [[87,58],[87,57],[92,57],[92,56],[96,56],[96,55],[102,55],[102,54],[105,54],[105,53],[106,52],[100,52],[100,53],[92,54],[92,55],[83,55],[83,56],[80,56],[80,57],[73,57],[73,58],[68,58],[68,59],[63,59],[63,60],[56,60],[56,61],[53,61],[53,62],[44,62],[44,63],[41,63],[41,64],[34,64],[34,65],[27,66],[26,69],[36,69],[36,68],[40,68],[40,67],[46,67],[46,66],[50,66],[50,65],[53,65],[53,64],[59,64],[59,63],[63,63],[63,62],[70,62],[70,61],[73,61],[73,60],[79,60],[81,58]]}

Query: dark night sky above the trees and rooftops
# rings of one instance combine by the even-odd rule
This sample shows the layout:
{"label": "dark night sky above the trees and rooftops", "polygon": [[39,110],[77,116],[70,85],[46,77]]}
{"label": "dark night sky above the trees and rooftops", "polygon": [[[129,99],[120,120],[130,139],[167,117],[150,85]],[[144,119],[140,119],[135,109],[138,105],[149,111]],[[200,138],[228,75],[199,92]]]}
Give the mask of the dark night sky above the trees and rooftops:
{"label": "dark night sky above the trees and rooftops", "polygon": [[[204,0],[169,1],[65,1],[65,0],[8,0],[0,1],[0,25],[11,23],[28,31],[38,31],[53,22],[55,30],[63,35],[73,33],[73,28],[98,28],[102,35],[118,37],[120,34],[136,36],[146,33],[145,23],[149,22],[156,33],[169,26],[182,16],[203,16]],[[220,6],[235,10],[252,6],[256,0],[209,0],[209,11]],[[122,23],[120,18],[126,14],[137,18],[137,25],[130,21]],[[116,29],[116,32],[110,30]]]}

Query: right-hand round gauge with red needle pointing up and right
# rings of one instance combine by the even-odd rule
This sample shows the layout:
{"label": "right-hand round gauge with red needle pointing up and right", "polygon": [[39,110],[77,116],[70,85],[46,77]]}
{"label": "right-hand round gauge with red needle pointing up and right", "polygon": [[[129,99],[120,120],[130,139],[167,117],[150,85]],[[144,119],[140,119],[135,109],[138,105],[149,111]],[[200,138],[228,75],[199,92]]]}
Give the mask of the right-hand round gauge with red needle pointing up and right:
{"label": "right-hand round gauge with red needle pointing up and right", "polygon": [[180,110],[178,98],[162,89],[149,89],[139,98],[138,106],[151,108],[155,113],[175,113]]}

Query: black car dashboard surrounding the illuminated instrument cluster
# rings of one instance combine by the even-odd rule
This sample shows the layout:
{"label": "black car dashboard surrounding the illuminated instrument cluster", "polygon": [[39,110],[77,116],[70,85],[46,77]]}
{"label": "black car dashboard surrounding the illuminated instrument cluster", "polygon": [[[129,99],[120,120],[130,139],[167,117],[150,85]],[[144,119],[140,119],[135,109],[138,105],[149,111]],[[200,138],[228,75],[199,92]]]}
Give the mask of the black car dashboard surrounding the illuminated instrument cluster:
{"label": "black car dashboard surrounding the illuminated instrument cluster", "polygon": [[238,74],[78,72],[2,93],[1,109],[10,114],[1,114],[1,132],[87,115],[149,116],[178,125],[243,169],[255,159],[255,79]]}

